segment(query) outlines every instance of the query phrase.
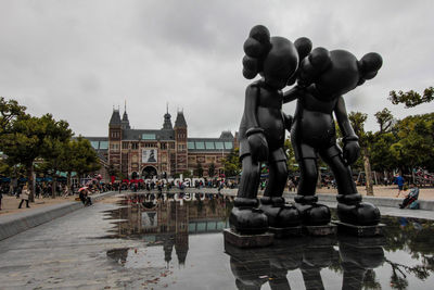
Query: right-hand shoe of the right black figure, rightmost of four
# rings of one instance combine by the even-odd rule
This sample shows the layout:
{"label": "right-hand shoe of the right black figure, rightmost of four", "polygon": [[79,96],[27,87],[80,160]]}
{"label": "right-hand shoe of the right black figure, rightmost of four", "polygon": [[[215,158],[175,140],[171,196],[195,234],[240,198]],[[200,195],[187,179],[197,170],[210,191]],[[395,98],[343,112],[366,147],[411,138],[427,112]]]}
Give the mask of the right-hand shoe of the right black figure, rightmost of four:
{"label": "right-hand shoe of the right black figure, rightmost of four", "polygon": [[375,226],[381,218],[379,209],[369,202],[357,204],[340,202],[337,203],[337,216],[342,223],[356,226]]}

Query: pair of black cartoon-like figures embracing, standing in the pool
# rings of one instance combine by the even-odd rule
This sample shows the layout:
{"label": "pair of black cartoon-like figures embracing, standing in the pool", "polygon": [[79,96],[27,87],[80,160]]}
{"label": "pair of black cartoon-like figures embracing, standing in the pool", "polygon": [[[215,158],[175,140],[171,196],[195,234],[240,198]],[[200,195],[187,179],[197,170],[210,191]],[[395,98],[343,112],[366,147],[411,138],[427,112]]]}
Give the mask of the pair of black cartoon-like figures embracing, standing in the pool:
{"label": "pair of black cartoon-like figures embracing, standing in the pool", "polygon": [[[330,223],[330,210],[318,204],[315,196],[318,154],[332,168],[337,184],[337,214],[341,222],[373,226],[380,211],[361,202],[349,165],[359,154],[345,109],[343,94],[376,75],[382,66],[378,53],[360,61],[344,50],[328,51],[299,38],[294,43],[283,37],[270,37],[266,27],[252,28],[244,42],[243,75],[260,80],[245,92],[240,125],[240,159],[243,173],[230,224],[240,234],[261,234],[268,227],[321,226]],[[282,94],[286,85],[297,85]],[[282,104],[297,99],[294,121],[282,112]],[[336,143],[332,113],[344,136],[344,150]],[[292,144],[301,167],[296,206],[282,198],[286,184],[284,129],[291,130]],[[258,207],[257,190],[260,163],[269,166],[269,180]]]}

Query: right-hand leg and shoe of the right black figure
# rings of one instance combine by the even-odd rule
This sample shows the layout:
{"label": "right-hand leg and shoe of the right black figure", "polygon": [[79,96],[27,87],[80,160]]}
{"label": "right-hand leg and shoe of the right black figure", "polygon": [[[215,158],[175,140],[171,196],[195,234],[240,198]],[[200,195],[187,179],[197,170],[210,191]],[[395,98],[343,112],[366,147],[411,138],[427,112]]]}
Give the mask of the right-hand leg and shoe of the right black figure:
{"label": "right-hand leg and shoe of the right black figure", "polygon": [[343,223],[373,226],[380,223],[380,211],[371,203],[361,202],[353,180],[352,169],[342,157],[341,150],[333,146],[320,152],[321,159],[332,168],[337,184],[337,216]]}

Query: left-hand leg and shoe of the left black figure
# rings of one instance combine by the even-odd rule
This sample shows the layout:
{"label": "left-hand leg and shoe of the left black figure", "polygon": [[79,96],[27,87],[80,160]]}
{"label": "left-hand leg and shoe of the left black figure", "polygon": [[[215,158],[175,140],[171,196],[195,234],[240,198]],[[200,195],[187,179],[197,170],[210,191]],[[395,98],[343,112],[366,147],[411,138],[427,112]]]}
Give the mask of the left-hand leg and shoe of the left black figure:
{"label": "left-hand leg and shoe of the left black figure", "polygon": [[243,173],[229,223],[241,234],[263,234],[268,229],[267,216],[257,209],[260,165],[251,155],[242,160]]}

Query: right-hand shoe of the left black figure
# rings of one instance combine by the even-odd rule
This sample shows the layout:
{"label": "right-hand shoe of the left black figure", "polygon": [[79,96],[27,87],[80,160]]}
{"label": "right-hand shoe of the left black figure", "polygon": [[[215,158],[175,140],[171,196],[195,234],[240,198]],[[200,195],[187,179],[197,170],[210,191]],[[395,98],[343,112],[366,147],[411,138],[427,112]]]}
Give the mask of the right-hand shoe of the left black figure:
{"label": "right-hand shoe of the left black figure", "polygon": [[298,210],[284,203],[283,198],[264,197],[260,199],[260,210],[268,217],[268,226],[273,228],[297,227],[302,219]]}

